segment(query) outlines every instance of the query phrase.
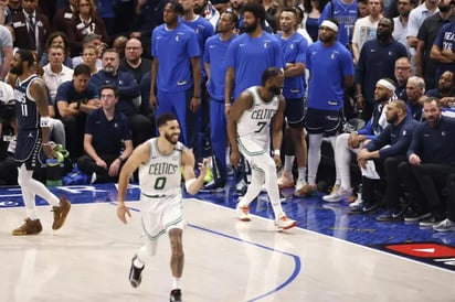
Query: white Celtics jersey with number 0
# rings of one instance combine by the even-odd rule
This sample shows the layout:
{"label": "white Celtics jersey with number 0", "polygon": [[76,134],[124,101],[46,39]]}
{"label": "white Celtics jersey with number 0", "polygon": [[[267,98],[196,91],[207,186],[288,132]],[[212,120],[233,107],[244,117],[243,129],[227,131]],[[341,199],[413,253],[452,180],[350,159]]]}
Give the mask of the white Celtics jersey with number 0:
{"label": "white Celtics jersey with number 0", "polygon": [[149,160],[139,166],[141,194],[148,197],[165,197],[180,194],[181,157],[186,148],[177,142],[173,152],[163,155],[158,150],[158,138],[149,139]]}

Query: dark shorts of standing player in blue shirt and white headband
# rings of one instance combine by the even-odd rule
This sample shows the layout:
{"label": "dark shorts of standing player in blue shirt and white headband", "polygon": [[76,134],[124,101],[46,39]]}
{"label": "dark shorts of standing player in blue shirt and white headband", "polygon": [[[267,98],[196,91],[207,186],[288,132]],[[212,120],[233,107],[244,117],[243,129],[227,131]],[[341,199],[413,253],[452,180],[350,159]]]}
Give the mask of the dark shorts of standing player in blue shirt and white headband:
{"label": "dark shorts of standing player in blue shirt and white headband", "polygon": [[305,126],[309,134],[336,136],[342,126],[342,112],[308,108]]}

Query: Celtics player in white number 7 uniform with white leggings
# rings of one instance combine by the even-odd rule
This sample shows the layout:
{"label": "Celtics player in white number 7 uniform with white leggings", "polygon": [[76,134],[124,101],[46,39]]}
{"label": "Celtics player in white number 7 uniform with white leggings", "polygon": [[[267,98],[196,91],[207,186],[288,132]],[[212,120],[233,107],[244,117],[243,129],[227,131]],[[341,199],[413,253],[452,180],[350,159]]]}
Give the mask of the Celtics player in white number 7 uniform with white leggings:
{"label": "Celtics player in white number 7 uniform with white leggings", "polygon": [[[283,116],[285,100],[281,96],[284,85],[283,71],[269,67],[262,75],[261,86],[244,90],[233,103],[228,116],[228,137],[231,143],[231,164],[237,165],[240,153],[252,168],[252,181],[243,197],[239,199],[236,212],[242,222],[250,222],[248,205],[260,194],[263,184],[275,214],[275,226],[288,229],[297,225],[283,212],[279,199],[276,168],[282,165],[279,149],[283,139]],[[269,155],[272,145],[274,158]]]}

